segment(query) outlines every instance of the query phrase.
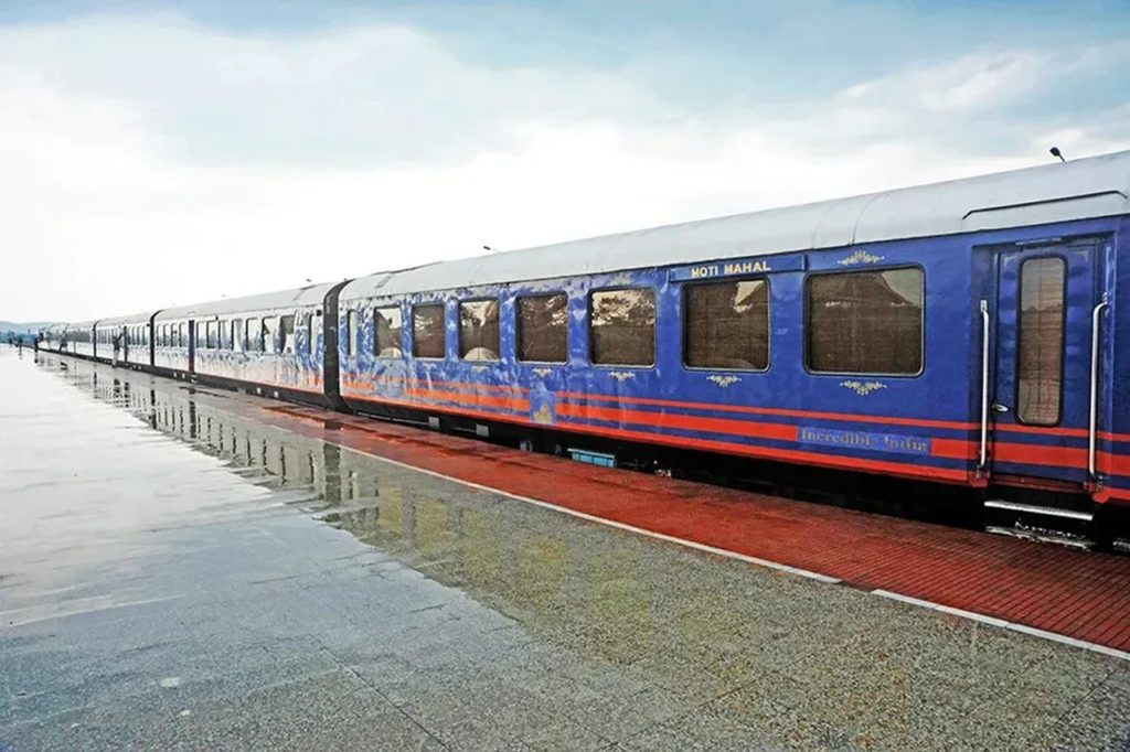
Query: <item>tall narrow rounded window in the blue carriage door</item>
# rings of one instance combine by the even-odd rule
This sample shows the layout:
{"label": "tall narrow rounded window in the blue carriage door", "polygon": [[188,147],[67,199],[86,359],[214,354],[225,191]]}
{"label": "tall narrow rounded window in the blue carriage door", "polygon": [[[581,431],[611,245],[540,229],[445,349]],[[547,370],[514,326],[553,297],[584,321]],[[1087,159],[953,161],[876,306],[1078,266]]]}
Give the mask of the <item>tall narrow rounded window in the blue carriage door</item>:
{"label": "tall narrow rounded window in the blue carriage door", "polygon": [[1016,416],[1033,426],[1060,421],[1067,268],[1059,256],[1020,265]]}

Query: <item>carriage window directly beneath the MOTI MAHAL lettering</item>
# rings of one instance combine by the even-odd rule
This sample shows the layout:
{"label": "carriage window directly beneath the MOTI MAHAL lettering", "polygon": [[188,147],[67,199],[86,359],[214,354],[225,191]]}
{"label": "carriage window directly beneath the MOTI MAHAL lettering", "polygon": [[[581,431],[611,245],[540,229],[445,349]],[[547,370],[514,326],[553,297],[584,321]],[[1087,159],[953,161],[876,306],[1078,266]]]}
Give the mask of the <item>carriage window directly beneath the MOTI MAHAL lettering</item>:
{"label": "carriage window directly beneath the MOTI MAHAL lettering", "polygon": [[770,367],[770,286],[764,279],[688,285],[683,315],[687,366]]}

